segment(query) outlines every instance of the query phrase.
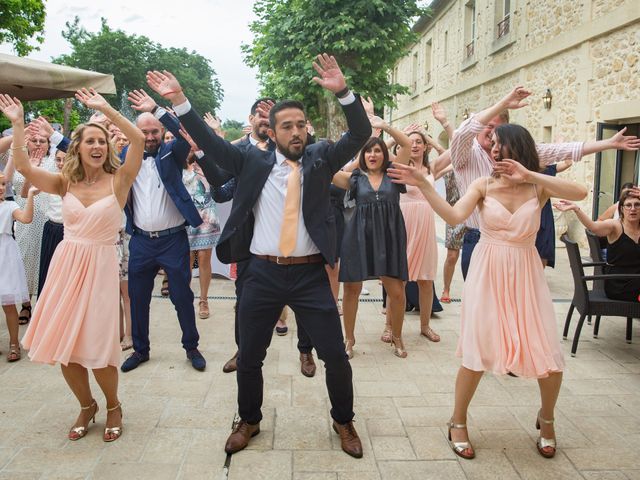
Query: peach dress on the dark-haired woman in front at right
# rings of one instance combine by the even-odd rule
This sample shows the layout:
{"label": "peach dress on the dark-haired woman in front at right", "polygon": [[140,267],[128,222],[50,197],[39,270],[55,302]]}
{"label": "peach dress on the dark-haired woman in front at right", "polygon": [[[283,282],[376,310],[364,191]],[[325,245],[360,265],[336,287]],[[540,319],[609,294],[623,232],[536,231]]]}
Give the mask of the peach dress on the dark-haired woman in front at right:
{"label": "peach dress on the dark-haired woman in front at right", "polygon": [[[511,213],[485,194],[462,295],[457,355],[470,370],[545,378],[564,368],[551,293],[535,247],[540,204]],[[487,183],[487,191],[489,190]]]}

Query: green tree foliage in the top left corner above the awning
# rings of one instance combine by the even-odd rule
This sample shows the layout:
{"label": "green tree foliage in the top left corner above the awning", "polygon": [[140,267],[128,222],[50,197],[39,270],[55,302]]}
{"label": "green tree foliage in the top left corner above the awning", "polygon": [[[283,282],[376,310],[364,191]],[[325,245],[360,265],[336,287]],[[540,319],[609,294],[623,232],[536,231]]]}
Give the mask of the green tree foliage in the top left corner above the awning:
{"label": "green tree foliage in the top left corner above the awning", "polygon": [[43,42],[44,18],[42,0],[0,0],[0,43],[11,43],[20,56],[37,50],[29,41]]}

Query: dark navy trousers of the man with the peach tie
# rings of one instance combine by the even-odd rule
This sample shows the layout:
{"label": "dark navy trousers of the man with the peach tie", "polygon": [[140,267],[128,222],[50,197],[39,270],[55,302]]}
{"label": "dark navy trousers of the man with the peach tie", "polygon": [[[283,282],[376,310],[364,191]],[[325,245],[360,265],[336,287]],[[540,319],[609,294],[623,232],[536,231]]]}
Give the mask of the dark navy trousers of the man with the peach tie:
{"label": "dark navy trousers of the man with the peach tie", "polygon": [[322,263],[277,265],[253,257],[243,273],[238,305],[238,411],[250,424],[262,420],[262,363],[273,328],[285,305],[311,338],[326,369],[331,416],[341,424],[353,419],[351,365],[329,278]]}

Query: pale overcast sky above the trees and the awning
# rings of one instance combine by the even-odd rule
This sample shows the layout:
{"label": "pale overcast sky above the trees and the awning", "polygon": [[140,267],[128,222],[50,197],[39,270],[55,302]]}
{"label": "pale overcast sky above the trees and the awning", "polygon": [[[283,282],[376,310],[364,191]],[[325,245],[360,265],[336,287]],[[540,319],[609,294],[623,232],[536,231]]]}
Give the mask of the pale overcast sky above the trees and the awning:
{"label": "pale overcast sky above the trees and the awning", "polygon": [[[246,121],[259,89],[255,72],[242,62],[240,52],[242,43],[251,42],[252,0],[46,0],[45,6],[45,41],[29,58],[51,60],[70,52],[61,32],[75,15],[90,32],[100,28],[104,17],[113,29],[145,35],[164,47],[195,50],[210,60],[224,89],[218,115]],[[7,44],[0,45],[0,52],[14,53]]]}

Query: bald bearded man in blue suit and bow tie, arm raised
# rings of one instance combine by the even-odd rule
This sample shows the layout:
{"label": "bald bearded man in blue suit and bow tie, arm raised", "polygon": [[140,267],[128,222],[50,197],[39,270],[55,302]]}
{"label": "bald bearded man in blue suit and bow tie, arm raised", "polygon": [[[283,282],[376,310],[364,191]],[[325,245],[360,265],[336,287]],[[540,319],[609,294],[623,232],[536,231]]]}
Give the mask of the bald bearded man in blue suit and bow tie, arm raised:
{"label": "bald bearded man in blue suit and bow tie, arm raised", "polygon": [[[179,133],[178,120],[144,91],[129,95],[138,116],[136,125],[145,136],[145,152],[129,201],[125,206],[129,243],[129,296],[134,352],[120,367],[123,372],[149,360],[149,305],[153,282],[162,268],[169,277],[169,298],[178,314],[182,346],[187,359],[202,371],[206,361],[198,350],[189,265],[189,240],[185,226],[198,226],[202,218],[182,183],[182,169],[191,149]],[[162,122],[162,123],[161,123]],[[162,141],[163,125],[175,139]],[[122,155],[126,154],[126,150]],[[124,158],[124,157],[123,157]]]}

